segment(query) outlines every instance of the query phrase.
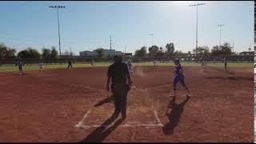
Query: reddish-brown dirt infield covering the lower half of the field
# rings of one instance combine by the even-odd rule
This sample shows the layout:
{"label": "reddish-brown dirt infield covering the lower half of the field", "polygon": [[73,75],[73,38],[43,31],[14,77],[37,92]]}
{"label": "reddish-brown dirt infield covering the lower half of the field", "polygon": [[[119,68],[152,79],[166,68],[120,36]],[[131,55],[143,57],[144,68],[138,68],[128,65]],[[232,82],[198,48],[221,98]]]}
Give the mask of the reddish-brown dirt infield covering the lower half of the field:
{"label": "reddish-brown dirt infield covering the lower half of the field", "polygon": [[173,68],[136,67],[114,122],[106,67],[1,73],[0,142],[254,142],[253,70],[183,67],[191,98],[179,85],[166,115]]}

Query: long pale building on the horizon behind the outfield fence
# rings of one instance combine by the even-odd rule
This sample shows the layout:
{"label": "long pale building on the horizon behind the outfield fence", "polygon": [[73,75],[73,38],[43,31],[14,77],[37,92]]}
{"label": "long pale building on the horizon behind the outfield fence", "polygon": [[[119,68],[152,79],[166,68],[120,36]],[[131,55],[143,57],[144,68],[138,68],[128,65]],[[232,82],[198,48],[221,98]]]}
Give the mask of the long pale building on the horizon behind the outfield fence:
{"label": "long pale building on the horizon behind the outfield fence", "polygon": [[[103,50],[103,53],[105,55],[110,55],[110,56],[123,54],[122,51],[106,50],[106,49]],[[96,50],[93,50],[93,51],[86,50],[86,51],[80,51],[79,56],[80,57],[97,57],[97,53],[96,53]]]}

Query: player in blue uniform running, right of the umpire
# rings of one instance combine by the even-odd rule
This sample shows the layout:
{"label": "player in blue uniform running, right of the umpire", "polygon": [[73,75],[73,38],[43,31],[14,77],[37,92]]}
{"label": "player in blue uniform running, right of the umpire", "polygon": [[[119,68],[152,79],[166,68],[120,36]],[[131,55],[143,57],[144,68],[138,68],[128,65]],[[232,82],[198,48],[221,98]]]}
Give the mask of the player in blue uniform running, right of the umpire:
{"label": "player in blue uniform running, right of the umpire", "polygon": [[190,93],[190,90],[187,88],[185,82],[184,82],[184,75],[182,74],[182,66],[179,63],[178,59],[174,60],[174,72],[175,72],[175,77],[174,77],[174,96],[176,96],[176,88],[177,88],[177,84],[178,82],[180,82],[182,84],[182,86],[185,87],[185,89]]}

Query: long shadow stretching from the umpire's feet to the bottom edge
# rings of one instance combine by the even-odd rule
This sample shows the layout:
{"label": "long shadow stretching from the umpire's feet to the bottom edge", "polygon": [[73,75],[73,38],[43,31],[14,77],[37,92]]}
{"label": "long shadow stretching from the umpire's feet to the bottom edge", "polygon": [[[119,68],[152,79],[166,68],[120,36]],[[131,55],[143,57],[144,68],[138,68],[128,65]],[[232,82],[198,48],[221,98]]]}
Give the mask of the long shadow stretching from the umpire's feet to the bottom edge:
{"label": "long shadow stretching from the umpire's feet to the bottom edge", "polygon": [[[81,142],[103,142],[103,140],[111,134],[118,126],[122,124],[124,119],[118,119],[118,121],[114,122],[114,120],[118,118],[116,115],[112,115],[110,118],[103,122],[101,126],[99,126],[96,130],[90,133],[86,138],[84,138]],[[114,122],[113,126],[110,124]],[[106,129],[106,126],[110,126]]]}

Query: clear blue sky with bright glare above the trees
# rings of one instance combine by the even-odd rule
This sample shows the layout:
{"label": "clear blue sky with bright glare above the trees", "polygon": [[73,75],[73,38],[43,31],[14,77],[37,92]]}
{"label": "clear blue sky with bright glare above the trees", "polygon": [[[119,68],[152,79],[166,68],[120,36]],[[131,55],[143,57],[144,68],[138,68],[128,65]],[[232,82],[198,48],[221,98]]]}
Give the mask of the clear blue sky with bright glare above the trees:
{"label": "clear blue sky with bright glare above the trees", "polygon": [[[203,2],[203,1],[198,1]],[[18,51],[28,46],[40,52],[43,46],[57,46],[57,11],[49,6],[66,6],[60,11],[62,52],[94,50],[102,46],[134,53],[141,46],[166,46],[174,42],[183,52],[195,48],[196,7],[187,2],[0,2],[0,42]],[[198,6],[198,46],[234,42],[234,51],[254,46],[254,1],[210,2]],[[254,50],[254,49],[252,49]]]}

